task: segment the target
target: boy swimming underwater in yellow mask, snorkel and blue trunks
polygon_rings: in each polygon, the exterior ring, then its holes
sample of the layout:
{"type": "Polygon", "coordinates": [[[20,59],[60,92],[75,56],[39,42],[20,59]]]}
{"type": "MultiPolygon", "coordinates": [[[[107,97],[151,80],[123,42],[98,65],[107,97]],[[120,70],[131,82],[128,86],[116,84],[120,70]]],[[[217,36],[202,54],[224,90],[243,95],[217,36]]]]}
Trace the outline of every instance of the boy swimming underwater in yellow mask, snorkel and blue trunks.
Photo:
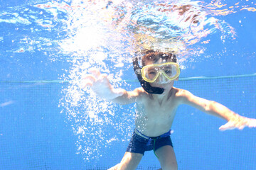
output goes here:
{"type": "Polygon", "coordinates": [[[178,80],[180,69],[174,54],[153,50],[145,53],[142,57],[142,68],[139,67],[138,59],[133,59],[134,71],[142,88],[134,91],[114,89],[107,75],[101,74],[97,69],[91,70],[92,74],[85,77],[88,80],[85,86],[90,86],[98,96],[119,104],[137,103],[136,128],[132,139],[122,161],[112,169],[136,169],[147,150],[154,150],[161,169],[178,169],[170,129],[176,109],[181,104],[228,120],[220,130],[256,127],[255,119],[242,117],[220,103],[175,88],[174,81],[178,80]]]}

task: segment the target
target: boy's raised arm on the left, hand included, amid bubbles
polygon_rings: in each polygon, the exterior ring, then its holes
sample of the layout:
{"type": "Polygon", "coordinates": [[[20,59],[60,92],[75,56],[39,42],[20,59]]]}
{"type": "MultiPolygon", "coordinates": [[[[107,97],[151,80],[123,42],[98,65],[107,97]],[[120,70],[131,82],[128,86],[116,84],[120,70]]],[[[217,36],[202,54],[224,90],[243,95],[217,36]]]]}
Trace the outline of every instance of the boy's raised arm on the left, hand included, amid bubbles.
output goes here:
{"type": "Polygon", "coordinates": [[[98,69],[90,69],[92,74],[88,74],[84,79],[87,80],[86,86],[90,86],[93,91],[100,96],[114,103],[129,104],[136,101],[139,96],[139,90],[126,91],[124,89],[114,89],[107,79],[106,74],[101,74],[98,69]]]}

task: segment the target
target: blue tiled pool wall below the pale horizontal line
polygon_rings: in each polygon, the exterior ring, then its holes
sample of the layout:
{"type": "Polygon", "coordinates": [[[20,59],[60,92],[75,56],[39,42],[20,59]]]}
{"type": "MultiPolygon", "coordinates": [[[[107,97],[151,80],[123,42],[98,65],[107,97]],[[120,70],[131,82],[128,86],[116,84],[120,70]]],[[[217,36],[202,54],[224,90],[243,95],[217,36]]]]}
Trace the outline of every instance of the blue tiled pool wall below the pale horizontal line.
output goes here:
{"type": "MultiPolygon", "coordinates": [[[[139,86],[137,82],[131,84],[139,86]]],[[[175,86],[255,118],[255,84],[256,77],[252,76],[181,80],[175,86]]],[[[102,148],[97,159],[87,161],[84,154],[77,154],[74,123],[59,107],[67,86],[1,82],[0,169],[107,169],[122,159],[129,142],[122,139],[97,146],[102,148]]],[[[120,107],[119,111],[124,113],[130,107],[120,107]]],[[[256,130],[220,132],[218,128],[224,123],[190,106],[179,106],[171,135],[179,169],[255,169],[256,130]]],[[[146,152],[138,169],[159,167],[153,152],[146,152]]]]}

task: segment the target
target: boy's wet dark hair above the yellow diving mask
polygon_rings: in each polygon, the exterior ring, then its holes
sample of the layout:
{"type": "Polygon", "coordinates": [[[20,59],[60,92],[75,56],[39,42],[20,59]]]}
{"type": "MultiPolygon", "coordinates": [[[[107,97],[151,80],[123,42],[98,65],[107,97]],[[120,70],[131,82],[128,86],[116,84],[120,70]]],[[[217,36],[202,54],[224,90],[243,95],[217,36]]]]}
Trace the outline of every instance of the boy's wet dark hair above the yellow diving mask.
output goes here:
{"type": "Polygon", "coordinates": [[[177,62],[176,55],[173,52],[160,52],[154,50],[146,50],[142,57],[142,67],[146,65],[146,61],[157,62],[159,59],[171,60],[171,62],[177,62]]]}

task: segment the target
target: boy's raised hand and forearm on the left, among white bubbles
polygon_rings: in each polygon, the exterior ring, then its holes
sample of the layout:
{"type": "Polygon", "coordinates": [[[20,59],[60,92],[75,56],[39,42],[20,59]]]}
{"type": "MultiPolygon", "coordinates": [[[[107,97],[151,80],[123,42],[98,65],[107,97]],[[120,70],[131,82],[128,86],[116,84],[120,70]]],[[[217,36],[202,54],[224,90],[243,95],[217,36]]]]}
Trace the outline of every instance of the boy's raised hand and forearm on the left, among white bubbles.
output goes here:
{"type": "Polygon", "coordinates": [[[123,89],[114,89],[107,79],[107,74],[101,74],[99,69],[90,69],[92,74],[88,74],[83,79],[86,79],[86,86],[90,86],[93,91],[101,98],[114,99],[124,94],[123,89]]]}

